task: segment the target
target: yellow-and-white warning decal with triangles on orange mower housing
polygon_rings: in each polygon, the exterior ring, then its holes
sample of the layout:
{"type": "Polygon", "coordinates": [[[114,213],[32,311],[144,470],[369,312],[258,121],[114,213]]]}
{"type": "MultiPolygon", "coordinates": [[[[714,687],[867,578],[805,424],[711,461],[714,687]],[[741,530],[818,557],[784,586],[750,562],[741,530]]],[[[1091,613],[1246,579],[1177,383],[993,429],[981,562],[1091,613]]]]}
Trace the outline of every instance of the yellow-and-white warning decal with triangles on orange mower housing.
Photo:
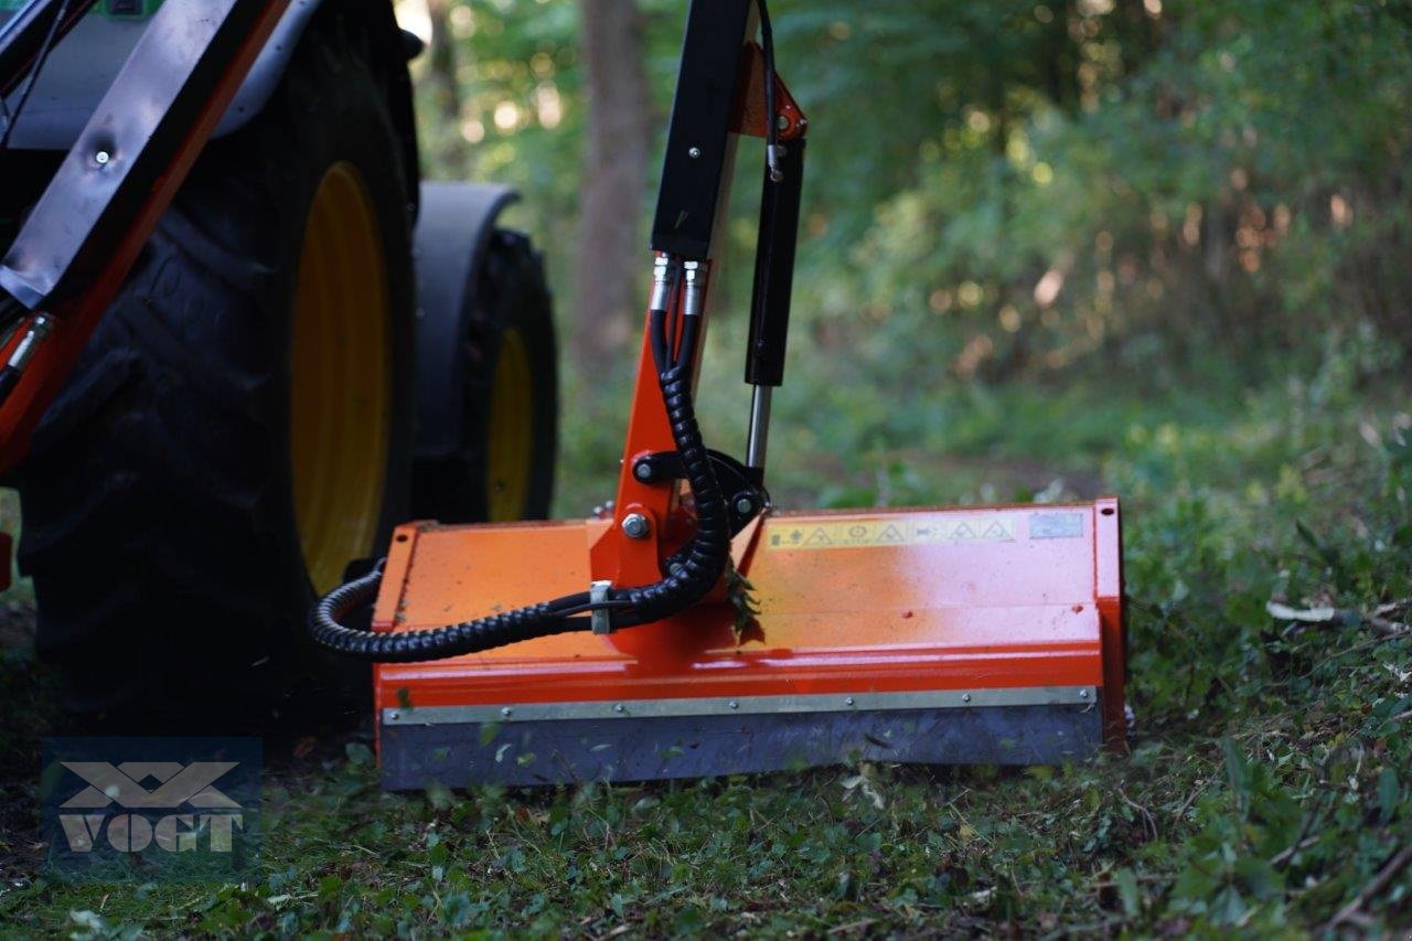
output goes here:
{"type": "Polygon", "coordinates": [[[825,550],[864,548],[871,545],[929,545],[933,543],[1008,543],[1015,538],[1011,514],[987,516],[908,516],[864,520],[774,520],[770,548],[825,550]]]}

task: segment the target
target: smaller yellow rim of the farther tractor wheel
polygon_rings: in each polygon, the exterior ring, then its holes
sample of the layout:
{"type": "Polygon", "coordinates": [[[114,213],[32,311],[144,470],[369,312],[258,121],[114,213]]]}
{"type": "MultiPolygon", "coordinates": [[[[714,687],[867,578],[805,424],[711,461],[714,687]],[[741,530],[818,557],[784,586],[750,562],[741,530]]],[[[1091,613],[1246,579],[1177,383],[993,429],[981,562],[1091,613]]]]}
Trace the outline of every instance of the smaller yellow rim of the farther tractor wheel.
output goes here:
{"type": "Polygon", "coordinates": [[[490,386],[490,441],[486,454],[486,506],[491,521],[524,519],[534,463],[534,380],[524,335],[500,335],[490,386]]]}

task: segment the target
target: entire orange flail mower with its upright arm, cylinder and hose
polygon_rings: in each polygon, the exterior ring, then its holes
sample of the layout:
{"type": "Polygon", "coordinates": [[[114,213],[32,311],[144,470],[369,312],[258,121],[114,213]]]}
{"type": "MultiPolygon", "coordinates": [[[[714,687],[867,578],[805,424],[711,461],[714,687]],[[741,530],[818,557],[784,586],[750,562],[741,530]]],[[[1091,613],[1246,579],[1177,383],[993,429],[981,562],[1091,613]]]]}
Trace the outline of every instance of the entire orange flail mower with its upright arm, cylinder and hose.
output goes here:
{"type": "Polygon", "coordinates": [[[772,59],[764,3],[693,0],[611,516],[409,523],[312,613],[316,640],[377,661],[384,786],[1052,763],[1123,742],[1117,500],[771,511],[806,129],[772,59]],[[767,140],[744,461],[705,448],[692,404],[740,134],[767,140]],[[370,632],[342,625],[374,598],[370,632]]]}

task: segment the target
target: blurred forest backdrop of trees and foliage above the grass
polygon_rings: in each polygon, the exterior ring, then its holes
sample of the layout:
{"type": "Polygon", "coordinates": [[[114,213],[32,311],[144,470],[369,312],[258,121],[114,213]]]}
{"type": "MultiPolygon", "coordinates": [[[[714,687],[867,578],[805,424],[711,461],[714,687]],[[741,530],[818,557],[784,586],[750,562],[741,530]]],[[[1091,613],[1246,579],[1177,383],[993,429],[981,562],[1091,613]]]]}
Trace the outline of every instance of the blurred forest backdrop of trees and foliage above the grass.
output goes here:
{"type": "MultiPolygon", "coordinates": [[[[456,172],[474,161],[521,188],[565,332],[596,366],[645,287],[686,0],[449,7],[460,120],[424,99],[428,160],[452,162],[435,147],[449,131],[469,151],[456,172]]],[[[771,7],[812,138],[791,345],[812,366],[792,374],[822,394],[882,403],[1099,362],[1152,381],[1217,357],[1288,369],[1365,324],[1412,349],[1406,0],[771,7]]],[[[733,300],[758,151],[741,164],[733,300]]]]}

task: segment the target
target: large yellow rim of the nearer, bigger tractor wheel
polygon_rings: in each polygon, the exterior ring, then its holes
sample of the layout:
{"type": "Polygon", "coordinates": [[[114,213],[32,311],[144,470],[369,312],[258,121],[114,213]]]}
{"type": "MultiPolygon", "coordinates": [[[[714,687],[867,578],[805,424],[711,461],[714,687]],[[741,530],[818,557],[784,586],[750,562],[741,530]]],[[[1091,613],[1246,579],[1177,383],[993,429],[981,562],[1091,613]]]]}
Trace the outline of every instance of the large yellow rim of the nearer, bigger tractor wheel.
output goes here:
{"type": "Polygon", "coordinates": [[[319,184],[294,300],[294,516],[319,592],[377,538],[391,425],[387,263],[367,184],[349,162],[319,184]]]}

